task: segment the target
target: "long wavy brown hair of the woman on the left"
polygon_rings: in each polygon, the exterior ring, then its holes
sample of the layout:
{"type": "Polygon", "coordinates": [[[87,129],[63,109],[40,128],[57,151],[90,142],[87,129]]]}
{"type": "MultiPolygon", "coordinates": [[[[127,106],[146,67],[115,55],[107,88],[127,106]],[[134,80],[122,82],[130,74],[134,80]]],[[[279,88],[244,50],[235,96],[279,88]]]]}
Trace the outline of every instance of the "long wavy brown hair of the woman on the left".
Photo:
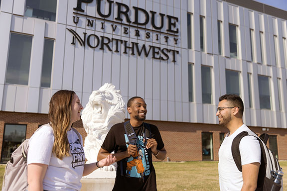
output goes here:
{"type": "Polygon", "coordinates": [[[71,123],[72,100],[75,92],[60,90],[56,92],[49,103],[49,120],[54,131],[53,153],[58,159],[69,156],[69,142],[67,132],[71,123]]]}

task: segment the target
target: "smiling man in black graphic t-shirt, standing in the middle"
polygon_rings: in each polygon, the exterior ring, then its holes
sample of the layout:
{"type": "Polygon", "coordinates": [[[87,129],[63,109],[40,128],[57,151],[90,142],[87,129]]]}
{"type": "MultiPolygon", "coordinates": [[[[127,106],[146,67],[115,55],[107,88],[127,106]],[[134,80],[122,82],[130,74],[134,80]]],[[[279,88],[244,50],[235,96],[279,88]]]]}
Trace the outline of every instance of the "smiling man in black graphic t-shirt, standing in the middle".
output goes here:
{"type": "Polygon", "coordinates": [[[107,157],[113,151],[117,158],[117,176],[113,191],[156,191],[155,170],[152,165],[152,153],[156,159],[164,160],[166,150],[160,133],[155,125],[143,123],[146,115],[146,103],[142,97],[132,97],[127,104],[131,115],[130,124],[138,139],[136,145],[129,144],[124,123],[114,125],[102,145],[98,160],[107,157]],[[148,128],[149,135],[145,135],[148,128]],[[145,141],[147,141],[146,144],[145,141]]]}

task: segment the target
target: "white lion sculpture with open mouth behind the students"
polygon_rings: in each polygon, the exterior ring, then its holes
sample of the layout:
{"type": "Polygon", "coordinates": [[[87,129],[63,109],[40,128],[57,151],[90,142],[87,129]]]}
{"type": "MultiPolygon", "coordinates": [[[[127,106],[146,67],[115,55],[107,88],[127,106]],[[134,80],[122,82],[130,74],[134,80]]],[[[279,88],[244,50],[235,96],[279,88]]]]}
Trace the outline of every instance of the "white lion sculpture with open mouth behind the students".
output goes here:
{"type": "MultiPolygon", "coordinates": [[[[114,124],[125,120],[125,102],[120,90],[113,84],[104,84],[93,91],[82,111],[82,120],[87,132],[84,151],[88,163],[96,162],[99,150],[114,124]]],[[[116,171],[116,163],[101,170],[116,171]]]]}

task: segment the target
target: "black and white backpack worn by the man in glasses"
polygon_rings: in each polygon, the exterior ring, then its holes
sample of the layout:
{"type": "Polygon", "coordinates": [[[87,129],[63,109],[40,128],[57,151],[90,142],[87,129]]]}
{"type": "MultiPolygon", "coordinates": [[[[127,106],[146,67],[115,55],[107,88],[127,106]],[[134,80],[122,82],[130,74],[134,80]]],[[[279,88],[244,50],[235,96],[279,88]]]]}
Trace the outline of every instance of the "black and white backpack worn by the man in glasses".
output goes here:
{"type": "Polygon", "coordinates": [[[276,188],[274,191],[283,191],[283,181],[281,185],[278,185],[272,181],[273,171],[280,170],[278,159],[272,153],[272,151],[266,146],[269,135],[264,133],[258,137],[252,131],[243,131],[239,133],[233,140],[231,151],[234,162],[240,172],[242,172],[241,156],[239,151],[239,143],[245,136],[254,136],[257,138],[261,148],[261,165],[259,168],[257,189],[256,191],[271,191],[271,188],[276,188]]]}

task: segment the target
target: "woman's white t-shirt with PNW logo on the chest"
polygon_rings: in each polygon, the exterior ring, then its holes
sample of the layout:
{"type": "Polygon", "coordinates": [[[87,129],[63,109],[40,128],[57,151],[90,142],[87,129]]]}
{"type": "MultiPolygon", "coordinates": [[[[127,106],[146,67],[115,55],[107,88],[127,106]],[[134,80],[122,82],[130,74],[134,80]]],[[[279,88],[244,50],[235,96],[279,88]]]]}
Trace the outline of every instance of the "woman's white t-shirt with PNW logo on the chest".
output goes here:
{"type": "Polygon", "coordinates": [[[80,180],[83,175],[85,154],[82,137],[79,140],[76,132],[67,133],[70,156],[58,159],[52,153],[54,144],[53,129],[45,124],[35,132],[29,141],[27,164],[40,163],[48,165],[43,189],[47,191],[80,191],[80,180]]]}

